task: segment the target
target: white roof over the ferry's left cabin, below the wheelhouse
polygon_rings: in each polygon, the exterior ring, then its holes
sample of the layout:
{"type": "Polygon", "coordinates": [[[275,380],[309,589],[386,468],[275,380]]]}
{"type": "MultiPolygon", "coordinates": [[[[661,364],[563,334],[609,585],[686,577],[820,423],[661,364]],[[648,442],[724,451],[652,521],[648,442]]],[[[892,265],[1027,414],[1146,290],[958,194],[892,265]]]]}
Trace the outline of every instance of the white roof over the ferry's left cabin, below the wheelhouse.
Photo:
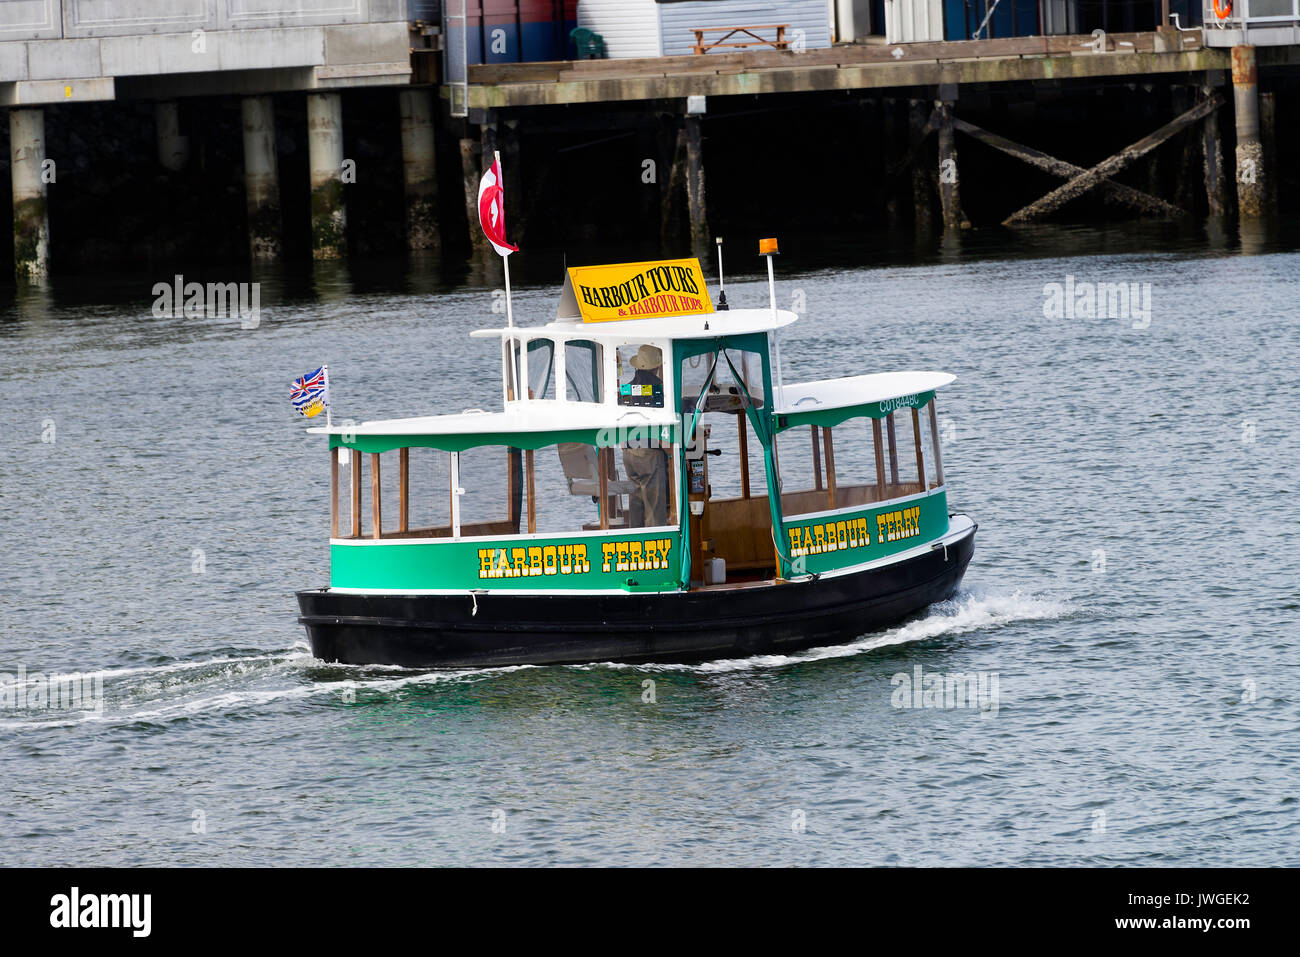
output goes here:
{"type": "Polygon", "coordinates": [[[454,415],[382,419],[360,425],[316,426],[317,436],[474,436],[495,432],[560,432],[567,429],[636,428],[673,425],[671,408],[610,406],[595,402],[529,399],[514,402],[504,412],[469,410],[454,415]]]}

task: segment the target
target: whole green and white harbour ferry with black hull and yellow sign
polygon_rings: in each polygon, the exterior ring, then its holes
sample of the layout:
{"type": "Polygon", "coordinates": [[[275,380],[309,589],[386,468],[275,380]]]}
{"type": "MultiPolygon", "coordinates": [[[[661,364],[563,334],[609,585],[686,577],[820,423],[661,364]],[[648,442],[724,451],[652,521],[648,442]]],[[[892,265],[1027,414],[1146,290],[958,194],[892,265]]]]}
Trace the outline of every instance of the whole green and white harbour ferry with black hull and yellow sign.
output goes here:
{"type": "Polygon", "coordinates": [[[694,259],[571,268],[555,321],[472,334],[500,350],[502,411],[311,429],[332,503],[330,584],[298,593],[312,653],[698,662],[952,596],[976,529],[944,485],[954,377],[784,384],[775,285],[768,308],[723,303],[694,259]]]}

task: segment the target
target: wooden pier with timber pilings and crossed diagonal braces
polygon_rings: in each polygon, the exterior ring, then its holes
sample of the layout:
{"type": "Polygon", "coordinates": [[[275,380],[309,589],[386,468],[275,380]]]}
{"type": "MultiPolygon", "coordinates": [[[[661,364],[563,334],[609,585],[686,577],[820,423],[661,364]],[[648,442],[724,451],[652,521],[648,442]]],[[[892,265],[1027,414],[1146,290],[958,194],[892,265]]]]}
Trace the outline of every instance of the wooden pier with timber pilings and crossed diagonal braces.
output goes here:
{"type": "MultiPolygon", "coordinates": [[[[1210,216],[1222,216],[1232,208],[1238,208],[1242,216],[1260,216],[1265,205],[1261,199],[1265,195],[1261,186],[1265,157],[1258,143],[1261,135],[1271,139],[1271,130],[1264,134],[1256,130],[1245,152],[1238,150],[1236,192],[1240,202],[1234,204],[1222,169],[1218,111],[1230,99],[1226,87],[1231,77],[1235,114],[1240,117],[1244,112],[1253,116],[1258,112],[1249,108],[1254,101],[1256,61],[1266,70],[1294,66],[1300,64],[1300,48],[1261,47],[1256,52],[1251,47],[1248,66],[1238,64],[1234,69],[1242,49],[1247,48],[1228,51],[1206,47],[1199,29],[942,43],[858,43],[809,51],[751,48],[654,59],[476,65],[469,66],[467,82],[459,88],[443,87],[443,96],[455,95],[467,104],[468,127],[464,135],[471,139],[463,140],[462,148],[469,152],[477,148],[472,142],[473,126],[495,129],[504,117],[524,125],[545,126],[551,122],[547,117],[555,116],[547,109],[588,105],[595,111],[608,109],[610,126],[618,129],[616,117],[625,118],[629,111],[675,113],[679,148],[670,153],[670,192],[680,182],[690,189],[680,198],[666,199],[662,230],[670,234],[667,220],[675,215],[684,216],[689,225],[681,231],[689,234],[693,251],[699,255],[706,250],[710,235],[701,116],[685,105],[693,100],[698,104],[698,98],[861,92],[890,98],[890,103],[906,100],[910,111],[906,139],[898,146],[885,142],[883,148],[894,153],[888,168],[890,179],[906,169],[911,170],[915,221],[923,229],[930,229],[932,221],[941,221],[944,229],[970,226],[961,205],[956,134],[974,138],[1065,181],[1037,200],[1008,209],[1004,217],[1006,225],[1043,218],[1088,191],[1097,191],[1108,203],[1127,207],[1138,216],[1186,216],[1188,209],[1179,204],[1178,196],[1154,195],[1150,189],[1136,189],[1113,177],[1196,124],[1201,125],[1197,148],[1205,190],[1204,205],[1197,205],[1208,209],[1210,216]],[[1252,86],[1244,87],[1247,77],[1252,86]],[[1069,91],[1102,82],[1127,82],[1147,90],[1153,83],[1176,87],[1182,92],[1171,96],[1170,103],[1182,105],[1167,117],[1153,117],[1156,122],[1152,126],[1156,129],[1149,135],[1117,148],[1100,163],[1084,164],[1013,142],[962,116],[962,91],[1032,103],[1035,94],[1044,87],[1069,91]],[[1247,105],[1243,107],[1243,103],[1247,105]],[[937,134],[937,146],[930,143],[932,133],[937,134]],[[682,150],[682,142],[689,148],[682,150]],[[901,159],[898,153],[902,153],[901,159]],[[684,168],[680,168],[682,164],[684,168]],[[1249,168],[1243,172],[1242,164],[1249,164],[1249,168]]],[[[1139,109],[1143,108],[1145,104],[1139,109]]],[[[1096,124],[1097,117],[1086,122],[1096,124]]],[[[467,172],[469,169],[467,165],[467,172]]],[[[1187,190],[1182,183],[1176,192],[1186,202],[1187,190]]]]}

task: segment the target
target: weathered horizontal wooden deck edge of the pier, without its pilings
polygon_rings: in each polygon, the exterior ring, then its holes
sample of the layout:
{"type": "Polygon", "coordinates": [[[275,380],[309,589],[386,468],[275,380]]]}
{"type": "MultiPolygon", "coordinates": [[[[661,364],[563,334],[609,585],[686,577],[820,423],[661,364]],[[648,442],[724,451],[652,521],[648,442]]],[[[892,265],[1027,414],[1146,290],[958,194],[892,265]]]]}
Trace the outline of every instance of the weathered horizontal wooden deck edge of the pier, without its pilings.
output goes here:
{"type": "Polygon", "coordinates": [[[469,105],[534,107],[1230,69],[1227,51],[1202,47],[1200,31],[1176,39],[1182,48],[1165,53],[1156,52],[1153,33],[1140,33],[1108,34],[1105,51],[1095,49],[1092,36],[1076,35],[488,64],[469,68],[469,105]]]}

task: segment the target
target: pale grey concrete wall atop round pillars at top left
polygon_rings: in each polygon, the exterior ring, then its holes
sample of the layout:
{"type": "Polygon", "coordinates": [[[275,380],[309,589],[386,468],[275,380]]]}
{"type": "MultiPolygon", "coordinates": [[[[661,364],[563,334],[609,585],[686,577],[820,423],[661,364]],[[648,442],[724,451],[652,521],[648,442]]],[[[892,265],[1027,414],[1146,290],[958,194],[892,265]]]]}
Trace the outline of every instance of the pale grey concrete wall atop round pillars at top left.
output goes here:
{"type": "Polygon", "coordinates": [[[0,0],[0,105],[113,99],[120,78],[168,95],[161,78],[177,74],[170,95],[407,82],[406,13],[406,0],[0,0]]]}

